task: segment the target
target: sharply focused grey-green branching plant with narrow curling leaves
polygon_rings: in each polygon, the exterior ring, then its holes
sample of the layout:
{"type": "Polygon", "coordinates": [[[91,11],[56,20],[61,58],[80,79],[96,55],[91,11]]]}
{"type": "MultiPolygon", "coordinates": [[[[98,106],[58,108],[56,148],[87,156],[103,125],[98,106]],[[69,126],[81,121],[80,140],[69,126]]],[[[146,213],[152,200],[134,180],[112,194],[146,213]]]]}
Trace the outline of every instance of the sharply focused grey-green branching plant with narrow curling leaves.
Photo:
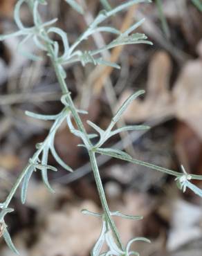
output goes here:
{"type": "MultiPolygon", "coordinates": [[[[68,4],[71,5],[72,8],[80,12],[81,14],[84,13],[82,6],[80,6],[77,1],[75,0],[66,0],[68,4]]],[[[110,50],[116,46],[125,45],[125,44],[152,44],[151,42],[147,41],[147,37],[140,33],[134,33],[134,30],[143,23],[143,20],[138,21],[137,23],[133,24],[130,28],[125,30],[124,32],[120,32],[117,28],[113,28],[110,26],[102,26],[102,22],[113,15],[116,15],[118,12],[127,10],[130,6],[134,5],[135,3],[149,3],[149,0],[131,0],[131,1],[123,1],[119,6],[115,8],[111,7],[109,1],[100,1],[104,6],[105,10],[98,13],[98,16],[95,17],[92,24],[89,28],[86,28],[84,33],[77,38],[77,40],[73,44],[69,44],[68,42],[68,35],[61,30],[53,26],[57,19],[52,19],[50,21],[43,22],[42,18],[40,17],[39,8],[41,5],[48,4],[48,1],[44,0],[19,0],[15,6],[14,18],[15,23],[19,30],[14,33],[10,33],[8,35],[1,35],[0,40],[6,39],[8,37],[17,37],[21,36],[22,40],[19,43],[19,51],[21,51],[28,59],[37,61],[39,60],[39,56],[34,55],[33,53],[25,53],[23,51],[23,45],[29,39],[33,39],[35,45],[40,51],[43,51],[53,64],[53,68],[55,74],[57,76],[57,80],[59,82],[59,86],[62,91],[61,102],[64,105],[64,108],[60,113],[57,115],[43,115],[39,113],[31,113],[26,111],[26,115],[30,116],[30,118],[37,118],[42,120],[49,120],[53,121],[53,125],[48,132],[45,140],[42,143],[37,143],[36,145],[36,152],[28,161],[28,164],[21,172],[19,177],[17,178],[16,183],[14,184],[12,190],[8,194],[6,201],[0,203],[0,223],[3,226],[3,238],[5,239],[6,243],[13,250],[17,253],[17,249],[12,244],[12,240],[10,239],[10,235],[4,221],[4,217],[6,214],[9,214],[13,211],[13,209],[9,208],[10,201],[12,200],[13,196],[17,191],[17,188],[21,186],[21,201],[25,203],[26,201],[26,193],[28,190],[28,183],[33,175],[33,172],[41,172],[42,180],[44,184],[50,190],[50,192],[54,192],[53,188],[51,188],[50,183],[48,181],[48,172],[50,170],[57,171],[57,169],[51,165],[48,165],[48,155],[49,153],[53,155],[55,160],[59,165],[64,167],[69,172],[73,172],[71,167],[69,167],[64,161],[58,156],[57,151],[54,146],[55,134],[58,131],[59,127],[62,125],[62,122],[66,122],[68,125],[68,129],[71,131],[72,134],[75,136],[80,137],[82,140],[82,147],[86,147],[89,152],[89,159],[91,161],[91,167],[93,170],[93,174],[95,177],[95,183],[98,188],[98,193],[100,196],[100,201],[102,203],[102,213],[96,212],[89,212],[88,210],[82,210],[84,214],[90,214],[93,217],[98,217],[102,220],[102,231],[100,233],[100,237],[95,242],[95,246],[91,252],[93,256],[109,256],[109,255],[139,255],[136,251],[131,251],[130,247],[131,244],[136,241],[143,241],[143,242],[150,242],[148,239],[144,237],[136,237],[131,239],[127,245],[125,246],[122,244],[122,240],[120,239],[120,234],[116,228],[116,225],[113,221],[113,217],[122,217],[125,219],[131,220],[140,220],[142,217],[139,216],[129,216],[127,214],[122,214],[119,211],[110,212],[107,200],[104,194],[104,189],[102,187],[102,181],[100,179],[100,172],[98,169],[97,163],[97,154],[104,154],[107,156],[111,156],[112,158],[122,159],[124,161],[128,161],[130,163],[135,163],[136,165],[143,165],[148,167],[150,170],[156,170],[159,172],[163,172],[165,174],[170,174],[176,177],[176,183],[180,189],[185,192],[186,188],[190,188],[194,193],[202,196],[202,191],[199,188],[196,188],[190,181],[192,179],[202,179],[202,176],[197,176],[194,174],[186,174],[185,171],[181,174],[179,172],[175,172],[173,170],[167,170],[166,168],[156,166],[150,163],[145,163],[143,161],[139,161],[137,159],[132,158],[126,152],[120,151],[118,149],[111,149],[104,147],[104,143],[109,140],[112,136],[119,134],[122,131],[132,131],[132,130],[139,130],[139,129],[149,129],[147,126],[143,125],[129,125],[122,128],[114,129],[116,123],[122,117],[122,113],[127,109],[129,104],[136,99],[138,96],[143,95],[144,91],[140,90],[131,95],[118,109],[115,116],[111,119],[109,126],[107,129],[103,130],[98,125],[95,125],[90,120],[87,123],[95,130],[95,134],[87,134],[86,129],[82,123],[80,118],[81,114],[85,114],[86,111],[76,109],[75,104],[71,98],[71,93],[68,91],[68,86],[66,85],[66,71],[64,69],[65,64],[71,64],[73,62],[81,62],[82,65],[86,65],[88,63],[91,64],[104,64],[107,66],[113,66],[115,68],[120,68],[118,64],[111,63],[109,60],[102,60],[100,53],[102,51],[110,50]],[[27,28],[24,26],[23,22],[20,18],[20,10],[23,3],[27,3],[28,7],[30,8],[33,14],[33,21],[34,26],[31,28],[27,28]],[[80,44],[88,39],[91,35],[97,32],[104,32],[104,33],[111,33],[111,35],[116,36],[112,42],[110,42],[107,46],[98,49],[92,49],[91,51],[82,51],[80,50],[80,44]],[[58,42],[54,41],[52,37],[53,34],[59,35],[61,37],[61,41],[63,44],[64,52],[60,54],[60,48],[58,42]],[[72,120],[75,122],[75,126],[73,125],[72,120]],[[91,138],[98,136],[98,143],[93,144],[91,138]],[[108,250],[102,253],[102,246],[106,244],[108,250]]],[[[68,145],[67,145],[68,147],[68,145]]]]}

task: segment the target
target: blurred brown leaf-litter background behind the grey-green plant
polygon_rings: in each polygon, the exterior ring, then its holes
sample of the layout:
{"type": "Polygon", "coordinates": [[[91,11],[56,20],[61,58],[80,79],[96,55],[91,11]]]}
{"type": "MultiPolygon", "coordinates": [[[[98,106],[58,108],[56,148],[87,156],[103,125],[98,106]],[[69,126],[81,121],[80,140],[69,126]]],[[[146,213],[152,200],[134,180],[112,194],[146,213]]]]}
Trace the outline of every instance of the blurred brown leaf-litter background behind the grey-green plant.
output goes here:
{"type": "MultiPolygon", "coordinates": [[[[17,30],[12,19],[15,2],[0,1],[1,34],[17,30]]],[[[57,26],[68,33],[71,43],[102,9],[98,0],[81,2],[86,5],[85,17],[62,0],[48,0],[48,7],[42,8],[44,20],[59,18],[57,26]]],[[[113,0],[111,5],[121,2],[113,0]]],[[[109,146],[178,172],[183,164],[188,173],[202,175],[202,10],[193,2],[163,1],[169,30],[162,27],[155,2],[138,4],[112,17],[109,24],[120,30],[146,17],[138,31],[154,46],[138,44],[105,52],[121,70],[91,64],[66,66],[66,82],[77,107],[89,111],[84,123],[89,119],[103,129],[132,92],[145,89],[145,96],[130,105],[122,123],[144,123],[151,129],[116,136],[109,146]]],[[[24,24],[32,26],[26,7],[21,17],[24,24]]],[[[106,33],[97,34],[82,47],[93,49],[111,39],[106,33]]],[[[24,111],[54,114],[62,109],[48,57],[41,62],[26,60],[17,52],[17,44],[19,38],[0,43],[1,201],[35,152],[35,144],[44,140],[50,129],[51,122],[28,118],[24,111]]],[[[24,47],[36,52],[33,42],[24,47]]],[[[87,125],[86,129],[91,131],[87,125]]],[[[56,193],[46,190],[38,172],[30,181],[26,205],[21,204],[19,194],[12,201],[15,213],[7,222],[22,256],[86,256],[100,234],[99,219],[80,212],[83,208],[100,212],[101,208],[88,155],[78,143],[62,125],[55,147],[75,172],[68,174],[50,156],[49,163],[58,168],[56,173],[49,172],[56,193]]],[[[145,167],[103,156],[98,163],[111,210],[144,216],[142,221],[116,220],[125,243],[131,237],[145,236],[152,244],[134,247],[141,256],[201,256],[202,201],[198,196],[188,190],[182,194],[172,177],[145,167]]],[[[195,184],[202,186],[200,181],[195,184]]],[[[13,255],[3,241],[0,255],[13,255]]]]}

